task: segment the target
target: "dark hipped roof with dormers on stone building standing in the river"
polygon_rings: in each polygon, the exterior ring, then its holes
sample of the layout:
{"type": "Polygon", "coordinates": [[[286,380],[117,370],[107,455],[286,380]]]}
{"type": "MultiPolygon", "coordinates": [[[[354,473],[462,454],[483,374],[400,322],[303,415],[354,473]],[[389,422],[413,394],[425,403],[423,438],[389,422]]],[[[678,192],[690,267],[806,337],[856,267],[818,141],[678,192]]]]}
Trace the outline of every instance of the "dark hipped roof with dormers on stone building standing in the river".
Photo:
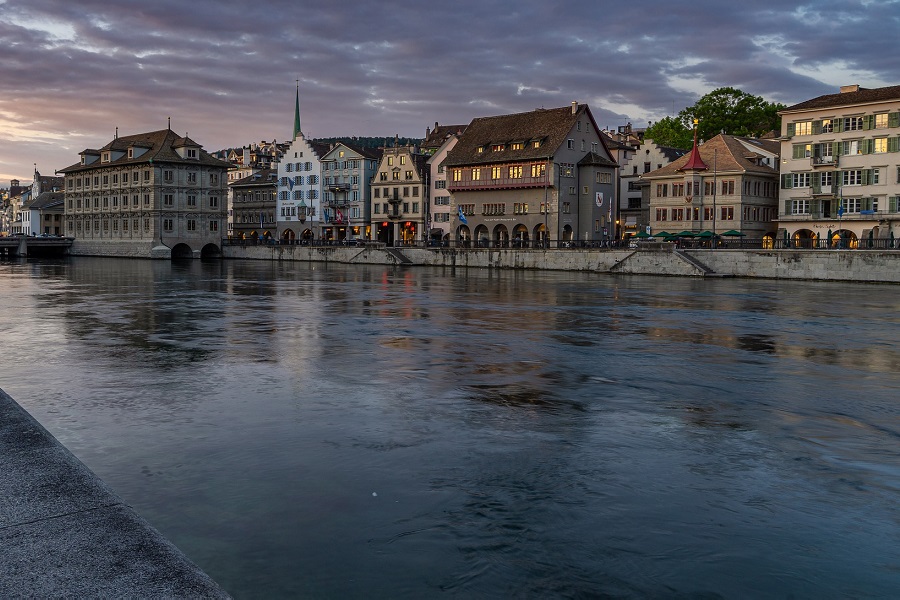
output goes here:
{"type": "Polygon", "coordinates": [[[231,165],[225,161],[221,161],[217,158],[213,158],[208,152],[200,148],[200,145],[196,142],[192,141],[190,138],[181,137],[176,134],[171,129],[161,129],[159,131],[151,131],[148,133],[139,133],[137,135],[126,135],[122,137],[118,137],[106,144],[98,150],[85,150],[85,152],[91,152],[93,154],[101,154],[106,150],[118,150],[123,152],[124,154],[116,160],[110,161],[108,163],[97,163],[93,162],[89,165],[82,165],[81,163],[74,164],[70,167],[66,167],[65,169],[60,169],[60,173],[72,173],[76,171],[83,171],[86,169],[95,169],[100,166],[116,166],[116,165],[139,165],[153,162],[166,162],[166,163],[184,163],[184,164],[200,164],[211,167],[222,167],[227,169],[231,165]],[[196,146],[199,148],[199,159],[185,159],[181,158],[177,152],[175,152],[175,148],[180,148],[182,146],[196,146]],[[128,148],[129,147],[139,147],[139,148],[147,148],[147,151],[138,156],[137,158],[128,158],[128,148]]]}

